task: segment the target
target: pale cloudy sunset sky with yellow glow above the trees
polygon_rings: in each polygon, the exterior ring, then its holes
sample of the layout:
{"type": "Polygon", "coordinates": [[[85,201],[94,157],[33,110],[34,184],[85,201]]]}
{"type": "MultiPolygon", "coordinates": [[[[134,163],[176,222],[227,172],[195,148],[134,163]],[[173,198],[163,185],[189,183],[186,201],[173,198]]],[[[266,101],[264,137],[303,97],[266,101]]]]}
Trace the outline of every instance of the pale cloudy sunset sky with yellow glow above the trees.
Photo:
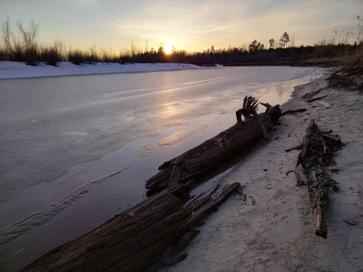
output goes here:
{"type": "MultiPolygon", "coordinates": [[[[296,45],[358,34],[363,0],[0,0],[0,20],[39,24],[39,41],[61,39],[82,50],[137,48],[204,51],[269,45],[284,32],[296,45]],[[335,34],[337,31],[337,34],[335,34]]],[[[352,39],[351,39],[352,41],[352,39]]]]}

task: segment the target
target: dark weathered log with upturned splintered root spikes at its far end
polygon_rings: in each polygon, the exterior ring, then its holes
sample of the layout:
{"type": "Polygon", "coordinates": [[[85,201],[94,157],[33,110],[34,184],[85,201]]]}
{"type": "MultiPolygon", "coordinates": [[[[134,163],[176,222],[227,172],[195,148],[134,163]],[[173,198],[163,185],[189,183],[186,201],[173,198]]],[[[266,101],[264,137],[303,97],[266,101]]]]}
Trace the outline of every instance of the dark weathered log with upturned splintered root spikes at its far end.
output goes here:
{"type": "MultiPolygon", "coordinates": [[[[247,98],[246,96],[244,107],[236,111],[237,123],[235,125],[199,146],[160,165],[160,172],[146,181],[147,196],[166,189],[170,182],[173,182],[172,184],[175,185],[175,178],[172,173],[179,169],[180,173],[179,171],[177,172],[178,183],[186,183],[189,180],[196,180],[204,176],[232,155],[248,147],[249,144],[264,135],[263,130],[268,131],[272,129],[273,122],[276,122],[281,115],[280,105],[272,107],[267,103],[260,103],[266,107],[266,111],[257,115],[257,104],[256,99],[247,98]],[[241,115],[244,116],[244,121],[242,121],[241,115]],[[258,118],[254,115],[257,115],[258,118]],[[178,166],[178,168],[175,166],[178,166]]],[[[265,133],[265,139],[268,137],[266,134],[267,132],[265,133]]]]}

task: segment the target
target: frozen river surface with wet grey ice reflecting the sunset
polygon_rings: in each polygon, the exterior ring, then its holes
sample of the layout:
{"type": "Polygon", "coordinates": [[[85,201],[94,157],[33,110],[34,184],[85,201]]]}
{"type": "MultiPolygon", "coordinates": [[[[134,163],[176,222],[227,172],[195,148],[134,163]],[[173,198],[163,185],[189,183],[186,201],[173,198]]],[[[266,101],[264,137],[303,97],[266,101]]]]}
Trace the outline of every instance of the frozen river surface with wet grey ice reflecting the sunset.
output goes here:
{"type": "Polygon", "coordinates": [[[159,165],[236,123],[244,96],[282,104],[310,71],[0,80],[0,271],[16,271],[142,201],[159,165]]]}

